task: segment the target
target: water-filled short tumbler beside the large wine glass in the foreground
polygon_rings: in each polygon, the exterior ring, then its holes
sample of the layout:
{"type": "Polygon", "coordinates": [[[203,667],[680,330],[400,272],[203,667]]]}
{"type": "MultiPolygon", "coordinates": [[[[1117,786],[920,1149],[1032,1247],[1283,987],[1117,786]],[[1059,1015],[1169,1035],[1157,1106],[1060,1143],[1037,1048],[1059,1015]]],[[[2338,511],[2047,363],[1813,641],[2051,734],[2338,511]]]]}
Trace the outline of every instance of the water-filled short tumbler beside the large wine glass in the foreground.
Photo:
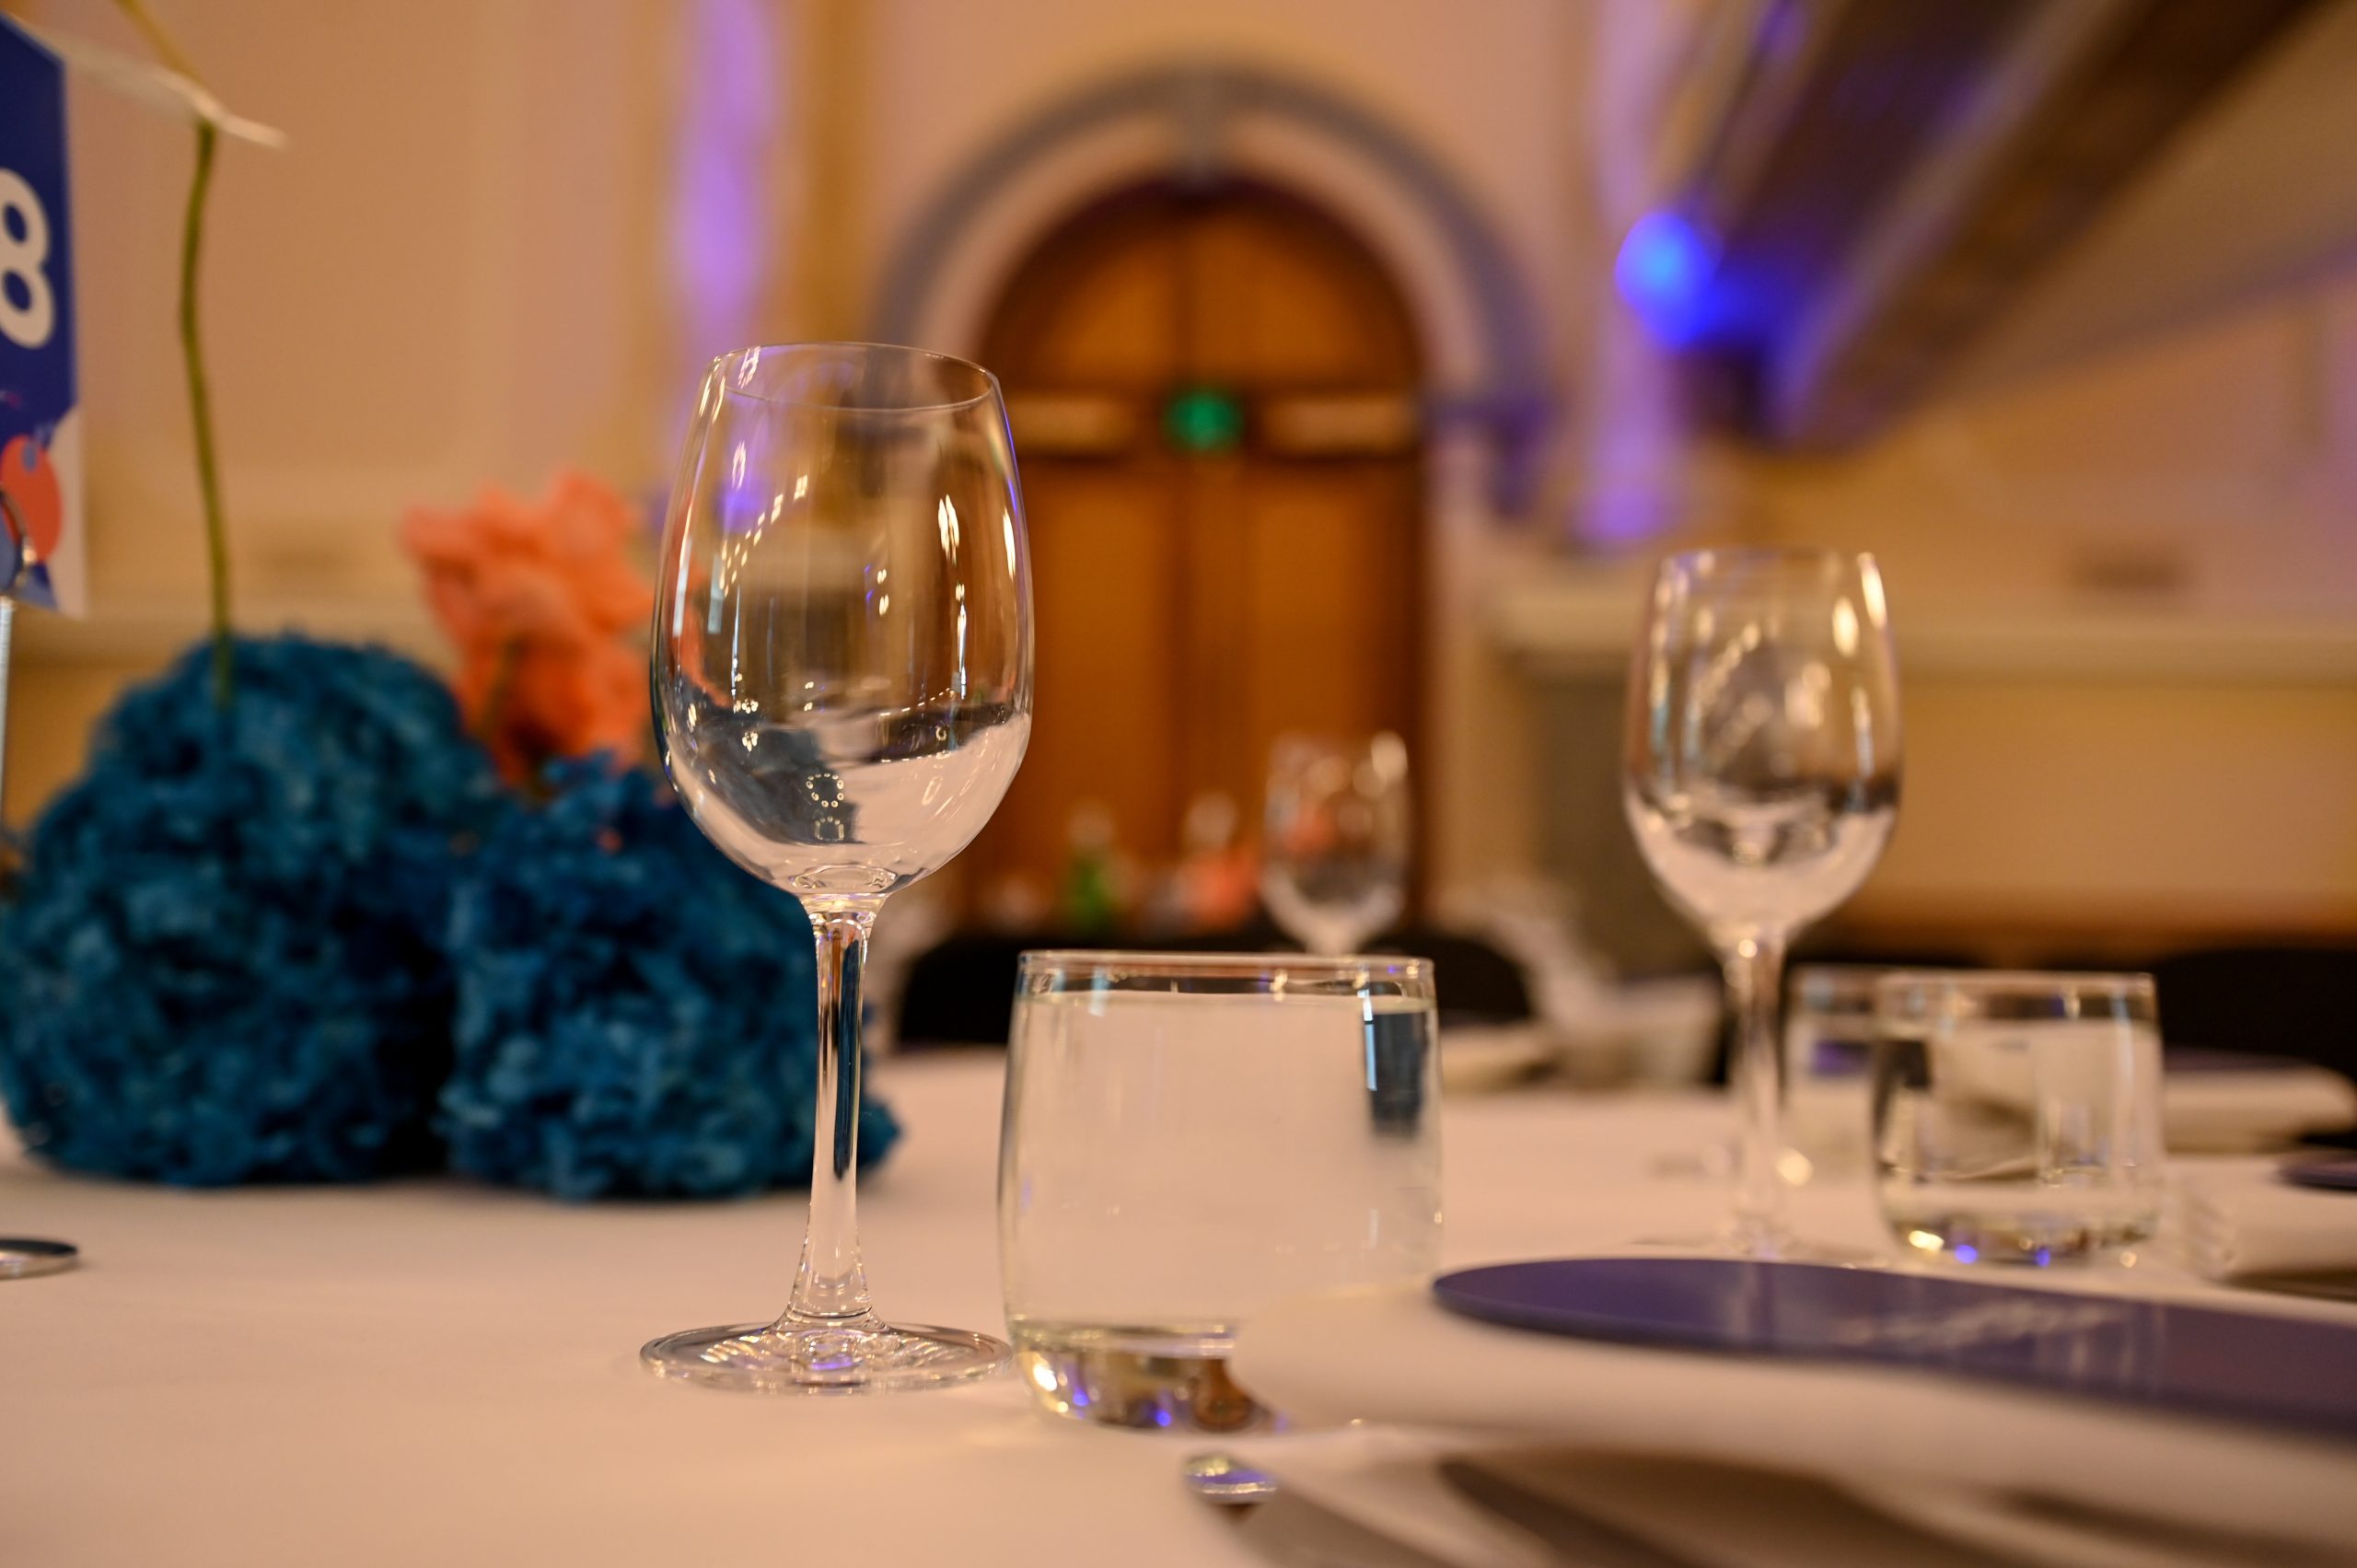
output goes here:
{"type": "Polygon", "coordinates": [[[1282,1297],[1440,1259],[1431,964],[1025,953],[999,1144],[1016,1365],[1061,1415],[1233,1431],[1282,1297]]]}

